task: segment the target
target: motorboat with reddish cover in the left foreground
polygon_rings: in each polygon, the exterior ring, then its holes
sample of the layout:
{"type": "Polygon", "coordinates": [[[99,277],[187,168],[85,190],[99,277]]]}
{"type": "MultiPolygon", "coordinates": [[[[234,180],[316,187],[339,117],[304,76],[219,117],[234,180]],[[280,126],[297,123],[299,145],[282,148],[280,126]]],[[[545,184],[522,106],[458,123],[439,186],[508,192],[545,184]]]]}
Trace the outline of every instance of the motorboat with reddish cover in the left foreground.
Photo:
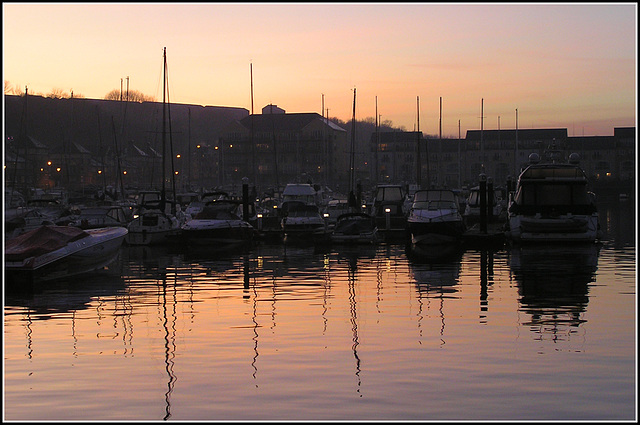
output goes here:
{"type": "Polygon", "coordinates": [[[6,241],[7,280],[51,281],[102,269],[118,257],[126,235],[124,227],[38,227],[6,241]]]}

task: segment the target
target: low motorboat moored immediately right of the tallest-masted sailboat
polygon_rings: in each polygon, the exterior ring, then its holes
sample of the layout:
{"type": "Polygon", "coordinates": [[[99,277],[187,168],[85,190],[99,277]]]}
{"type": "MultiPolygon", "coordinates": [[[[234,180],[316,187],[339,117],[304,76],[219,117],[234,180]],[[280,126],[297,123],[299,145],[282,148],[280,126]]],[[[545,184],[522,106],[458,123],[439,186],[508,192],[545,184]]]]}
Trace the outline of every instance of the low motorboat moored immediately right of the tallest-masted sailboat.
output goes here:
{"type": "Polygon", "coordinates": [[[242,208],[242,202],[236,200],[207,202],[202,211],[182,225],[180,240],[187,246],[211,248],[251,242],[256,230],[240,217],[242,208]]]}

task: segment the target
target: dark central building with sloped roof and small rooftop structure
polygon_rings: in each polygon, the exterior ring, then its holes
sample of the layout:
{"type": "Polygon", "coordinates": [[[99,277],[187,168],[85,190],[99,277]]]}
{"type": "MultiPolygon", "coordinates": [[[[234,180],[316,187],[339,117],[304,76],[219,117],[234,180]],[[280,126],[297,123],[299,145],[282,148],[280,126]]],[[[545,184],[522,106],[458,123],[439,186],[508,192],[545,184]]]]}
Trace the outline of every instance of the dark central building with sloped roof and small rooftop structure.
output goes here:
{"type": "Polygon", "coordinates": [[[219,185],[248,177],[263,190],[307,181],[337,188],[348,181],[346,134],[317,113],[288,114],[267,105],[262,114],[234,122],[219,139],[219,185]]]}

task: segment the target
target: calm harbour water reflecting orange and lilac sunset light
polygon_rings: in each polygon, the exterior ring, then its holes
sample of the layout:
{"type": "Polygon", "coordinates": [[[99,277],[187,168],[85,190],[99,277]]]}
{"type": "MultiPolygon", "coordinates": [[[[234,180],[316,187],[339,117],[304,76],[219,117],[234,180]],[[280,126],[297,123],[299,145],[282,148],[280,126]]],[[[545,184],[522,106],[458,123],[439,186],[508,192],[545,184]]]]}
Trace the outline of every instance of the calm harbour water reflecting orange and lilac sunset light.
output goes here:
{"type": "Polygon", "coordinates": [[[635,201],[597,246],[125,247],[5,296],[4,419],[635,420],[635,201]]]}

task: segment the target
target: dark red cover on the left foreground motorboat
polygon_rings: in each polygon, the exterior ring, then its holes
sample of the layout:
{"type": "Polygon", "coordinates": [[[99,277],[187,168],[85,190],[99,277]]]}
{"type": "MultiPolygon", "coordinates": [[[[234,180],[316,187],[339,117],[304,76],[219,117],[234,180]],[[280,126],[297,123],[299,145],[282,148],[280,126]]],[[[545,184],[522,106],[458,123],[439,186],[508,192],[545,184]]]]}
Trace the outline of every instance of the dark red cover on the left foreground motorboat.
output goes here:
{"type": "Polygon", "coordinates": [[[69,242],[89,236],[73,226],[41,226],[5,242],[6,261],[22,261],[29,257],[60,249],[69,242]]]}

